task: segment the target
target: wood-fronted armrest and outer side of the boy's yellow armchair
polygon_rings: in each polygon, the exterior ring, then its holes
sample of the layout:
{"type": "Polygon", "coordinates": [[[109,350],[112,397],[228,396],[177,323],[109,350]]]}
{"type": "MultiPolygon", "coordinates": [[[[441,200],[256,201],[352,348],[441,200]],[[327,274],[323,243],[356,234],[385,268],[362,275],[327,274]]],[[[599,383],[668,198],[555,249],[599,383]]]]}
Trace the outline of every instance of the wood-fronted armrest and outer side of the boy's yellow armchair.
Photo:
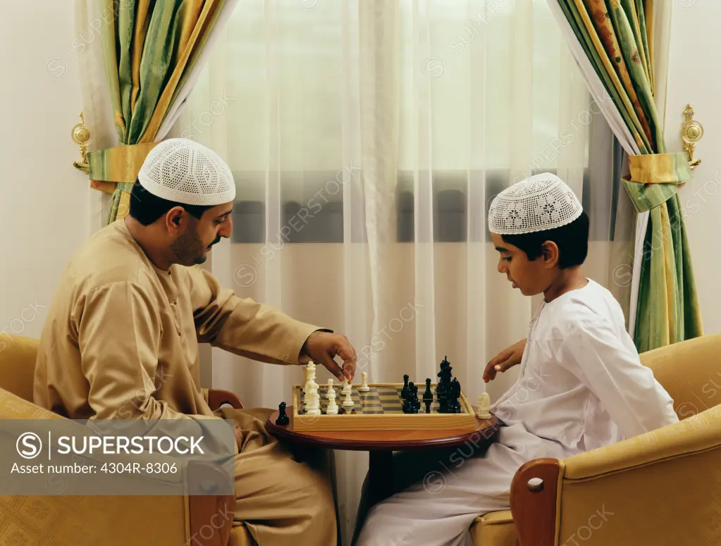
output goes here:
{"type": "Polygon", "coordinates": [[[513,478],[510,508],[520,546],[660,546],[717,540],[720,501],[716,406],[565,460],[530,461],[513,478]]]}

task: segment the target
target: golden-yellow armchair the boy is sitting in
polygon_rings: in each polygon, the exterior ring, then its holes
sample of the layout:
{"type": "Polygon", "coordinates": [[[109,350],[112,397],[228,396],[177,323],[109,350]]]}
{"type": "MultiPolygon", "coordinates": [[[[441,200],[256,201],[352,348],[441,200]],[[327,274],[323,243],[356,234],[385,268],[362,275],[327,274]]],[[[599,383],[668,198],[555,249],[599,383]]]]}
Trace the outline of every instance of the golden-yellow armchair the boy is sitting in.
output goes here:
{"type": "Polygon", "coordinates": [[[510,511],[474,522],[476,546],[721,544],[721,334],[641,355],[678,424],[513,479],[510,511]]]}

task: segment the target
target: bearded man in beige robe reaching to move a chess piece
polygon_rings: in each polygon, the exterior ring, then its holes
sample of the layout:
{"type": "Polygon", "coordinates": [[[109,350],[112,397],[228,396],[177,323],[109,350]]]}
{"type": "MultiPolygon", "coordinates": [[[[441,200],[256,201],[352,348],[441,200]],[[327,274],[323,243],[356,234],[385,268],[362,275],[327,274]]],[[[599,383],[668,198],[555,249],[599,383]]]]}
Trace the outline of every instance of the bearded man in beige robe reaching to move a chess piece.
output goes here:
{"type": "Polygon", "coordinates": [[[345,336],[224,290],[207,271],[231,236],[235,184],[213,151],[165,140],[143,163],[129,215],[76,252],[40,339],[35,403],[70,419],[234,419],[236,514],[260,546],[335,546],[329,485],[265,431],[272,410],[213,413],[198,343],[273,364],[320,362],[353,379],[345,336]],[[334,357],[343,359],[343,368],[334,357]]]}

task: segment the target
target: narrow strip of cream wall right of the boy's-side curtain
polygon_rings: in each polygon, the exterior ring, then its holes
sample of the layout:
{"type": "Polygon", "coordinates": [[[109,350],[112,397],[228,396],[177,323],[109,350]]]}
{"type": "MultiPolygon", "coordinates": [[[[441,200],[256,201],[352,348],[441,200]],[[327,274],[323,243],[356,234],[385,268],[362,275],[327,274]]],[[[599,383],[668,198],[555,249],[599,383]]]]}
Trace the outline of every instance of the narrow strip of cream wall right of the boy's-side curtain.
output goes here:
{"type": "Polygon", "coordinates": [[[665,134],[668,151],[681,151],[681,123],[691,104],[694,119],[704,125],[704,137],[694,157],[702,164],[681,189],[689,244],[701,299],[704,333],[721,331],[721,2],[677,0],[673,3],[671,53],[665,134]]]}

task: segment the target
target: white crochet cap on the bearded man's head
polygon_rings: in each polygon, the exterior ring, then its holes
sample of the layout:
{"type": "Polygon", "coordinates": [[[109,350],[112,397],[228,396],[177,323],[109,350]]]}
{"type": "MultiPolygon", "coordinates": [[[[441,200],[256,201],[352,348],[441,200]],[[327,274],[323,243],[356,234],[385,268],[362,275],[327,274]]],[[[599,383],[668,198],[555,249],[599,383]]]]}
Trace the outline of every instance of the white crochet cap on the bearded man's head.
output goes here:
{"type": "Polygon", "coordinates": [[[185,205],[214,207],[235,199],[235,182],[226,162],[187,138],[169,138],[153,148],[138,181],[151,194],[185,205]]]}

